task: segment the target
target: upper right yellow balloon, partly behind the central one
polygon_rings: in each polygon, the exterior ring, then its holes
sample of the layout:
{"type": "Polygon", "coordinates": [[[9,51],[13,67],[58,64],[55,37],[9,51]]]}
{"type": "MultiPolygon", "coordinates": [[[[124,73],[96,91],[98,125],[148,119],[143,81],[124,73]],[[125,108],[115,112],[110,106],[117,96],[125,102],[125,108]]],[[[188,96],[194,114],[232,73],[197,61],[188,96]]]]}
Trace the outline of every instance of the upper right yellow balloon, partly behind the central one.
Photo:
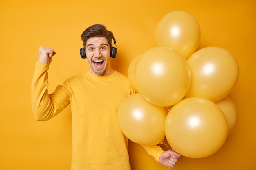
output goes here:
{"type": "Polygon", "coordinates": [[[192,54],[187,63],[191,84],[186,97],[202,97],[215,102],[227,96],[238,80],[238,63],[223,48],[202,48],[192,54]]]}

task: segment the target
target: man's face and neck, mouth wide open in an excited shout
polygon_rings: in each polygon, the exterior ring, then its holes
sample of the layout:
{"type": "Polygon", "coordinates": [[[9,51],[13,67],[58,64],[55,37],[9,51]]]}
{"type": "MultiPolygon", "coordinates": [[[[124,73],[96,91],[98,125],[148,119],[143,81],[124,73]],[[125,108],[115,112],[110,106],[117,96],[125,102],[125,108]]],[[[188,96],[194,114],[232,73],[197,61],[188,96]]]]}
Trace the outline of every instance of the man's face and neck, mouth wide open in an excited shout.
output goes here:
{"type": "Polygon", "coordinates": [[[99,76],[107,76],[113,73],[109,61],[110,50],[111,47],[105,37],[92,37],[86,41],[85,53],[91,66],[89,72],[99,76]]]}

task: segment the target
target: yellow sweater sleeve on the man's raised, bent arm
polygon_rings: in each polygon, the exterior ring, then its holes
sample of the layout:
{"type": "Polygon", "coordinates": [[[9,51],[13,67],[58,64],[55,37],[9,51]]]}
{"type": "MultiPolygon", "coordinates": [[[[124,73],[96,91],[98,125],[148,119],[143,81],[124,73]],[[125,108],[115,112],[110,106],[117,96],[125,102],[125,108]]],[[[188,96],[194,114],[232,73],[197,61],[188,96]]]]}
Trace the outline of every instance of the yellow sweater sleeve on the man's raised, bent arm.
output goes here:
{"type": "Polygon", "coordinates": [[[48,69],[48,64],[36,62],[31,84],[31,102],[34,117],[38,121],[53,118],[70,103],[69,92],[61,86],[52,94],[48,94],[48,69]]]}

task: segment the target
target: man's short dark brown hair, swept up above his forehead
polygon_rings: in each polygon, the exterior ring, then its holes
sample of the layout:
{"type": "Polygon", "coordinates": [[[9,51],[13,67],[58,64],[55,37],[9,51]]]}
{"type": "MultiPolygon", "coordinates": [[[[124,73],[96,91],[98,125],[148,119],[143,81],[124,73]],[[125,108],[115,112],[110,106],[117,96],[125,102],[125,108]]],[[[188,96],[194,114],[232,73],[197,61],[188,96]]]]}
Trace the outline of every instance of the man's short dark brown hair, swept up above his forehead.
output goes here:
{"type": "Polygon", "coordinates": [[[102,24],[95,24],[83,31],[81,35],[81,39],[83,41],[83,45],[86,45],[86,41],[92,37],[105,37],[108,40],[108,44],[110,48],[112,47],[112,39],[114,37],[111,31],[108,31],[106,26],[102,24]]]}

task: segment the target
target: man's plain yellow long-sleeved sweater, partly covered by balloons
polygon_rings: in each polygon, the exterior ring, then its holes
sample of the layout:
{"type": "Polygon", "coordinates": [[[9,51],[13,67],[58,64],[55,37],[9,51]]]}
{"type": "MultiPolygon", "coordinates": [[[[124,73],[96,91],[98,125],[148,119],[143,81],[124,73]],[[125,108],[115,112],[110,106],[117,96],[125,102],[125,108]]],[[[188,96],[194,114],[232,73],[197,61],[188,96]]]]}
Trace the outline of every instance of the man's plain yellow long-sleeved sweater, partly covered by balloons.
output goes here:
{"type": "MultiPolygon", "coordinates": [[[[31,85],[32,109],[36,120],[46,121],[71,104],[71,170],[130,170],[128,139],[117,123],[117,109],[135,91],[128,78],[115,71],[109,76],[85,72],[66,80],[48,94],[49,65],[36,62],[31,85]]],[[[159,146],[143,146],[159,160],[159,146]]]]}

